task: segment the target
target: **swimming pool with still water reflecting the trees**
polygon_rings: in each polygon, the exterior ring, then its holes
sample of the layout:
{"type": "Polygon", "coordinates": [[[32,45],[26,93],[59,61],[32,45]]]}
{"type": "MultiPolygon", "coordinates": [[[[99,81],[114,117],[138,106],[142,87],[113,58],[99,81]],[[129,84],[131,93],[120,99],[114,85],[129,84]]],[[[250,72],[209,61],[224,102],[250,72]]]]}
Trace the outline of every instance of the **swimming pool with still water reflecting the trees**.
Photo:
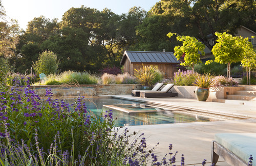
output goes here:
{"type": "MultiPolygon", "coordinates": [[[[155,125],[155,124],[170,124],[170,123],[188,123],[188,122],[209,122],[230,120],[228,117],[214,116],[211,114],[200,114],[191,112],[190,110],[161,108],[159,106],[148,106],[143,102],[130,101],[116,98],[93,97],[86,98],[86,106],[94,114],[100,115],[105,110],[113,110],[113,117],[116,119],[117,126],[137,126],[137,125],[155,125]],[[106,106],[103,106],[106,105],[106,106]],[[120,111],[109,105],[114,105],[121,108],[135,109],[132,113],[120,111]],[[139,106],[138,106],[139,105],[139,106]],[[145,112],[136,112],[136,109],[145,112]]],[[[232,118],[233,119],[233,118],[232,118]]]]}

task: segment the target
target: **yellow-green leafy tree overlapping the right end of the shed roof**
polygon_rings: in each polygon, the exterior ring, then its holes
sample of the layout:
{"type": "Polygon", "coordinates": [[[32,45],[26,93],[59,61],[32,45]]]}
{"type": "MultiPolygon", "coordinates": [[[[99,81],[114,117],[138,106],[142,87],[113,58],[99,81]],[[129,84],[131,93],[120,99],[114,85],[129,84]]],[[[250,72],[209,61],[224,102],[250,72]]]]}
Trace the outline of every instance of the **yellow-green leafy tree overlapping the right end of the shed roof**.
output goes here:
{"type": "MultiPolygon", "coordinates": [[[[167,36],[170,38],[173,35],[173,33],[168,33],[167,36]]],[[[189,66],[194,71],[194,66],[197,63],[202,63],[200,60],[200,56],[205,56],[204,48],[205,45],[201,42],[199,42],[195,37],[190,36],[179,36],[177,35],[177,40],[183,42],[182,46],[176,46],[174,48],[175,50],[175,57],[177,60],[179,60],[183,54],[185,53],[184,62],[182,62],[180,65],[182,66],[189,66]],[[201,54],[200,54],[200,52],[201,54]]]]}

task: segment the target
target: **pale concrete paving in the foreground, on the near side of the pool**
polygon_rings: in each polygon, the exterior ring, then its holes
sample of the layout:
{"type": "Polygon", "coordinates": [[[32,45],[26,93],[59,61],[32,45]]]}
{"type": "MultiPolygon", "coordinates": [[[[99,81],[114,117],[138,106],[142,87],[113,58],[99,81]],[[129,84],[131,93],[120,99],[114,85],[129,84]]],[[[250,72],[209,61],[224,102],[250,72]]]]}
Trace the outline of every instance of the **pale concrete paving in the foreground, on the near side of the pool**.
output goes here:
{"type": "MultiPolygon", "coordinates": [[[[211,161],[211,144],[216,133],[253,133],[256,120],[160,124],[128,128],[131,132],[143,132],[148,148],[153,148],[160,143],[155,150],[155,154],[160,156],[159,159],[169,153],[168,146],[173,144],[172,152],[178,151],[178,163],[180,163],[181,154],[184,154],[185,164],[195,165],[201,164],[204,159],[211,161]]],[[[219,161],[224,160],[220,158],[219,161]]],[[[228,164],[220,162],[217,165],[228,164]]]]}

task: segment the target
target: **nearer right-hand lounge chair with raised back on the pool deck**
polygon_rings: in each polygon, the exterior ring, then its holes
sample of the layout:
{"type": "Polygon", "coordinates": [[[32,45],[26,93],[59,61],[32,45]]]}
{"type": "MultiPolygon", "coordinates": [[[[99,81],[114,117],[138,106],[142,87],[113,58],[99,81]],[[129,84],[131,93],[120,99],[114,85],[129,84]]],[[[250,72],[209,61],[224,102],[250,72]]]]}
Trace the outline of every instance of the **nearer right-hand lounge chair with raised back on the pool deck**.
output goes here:
{"type": "Polygon", "coordinates": [[[175,97],[178,93],[170,91],[174,87],[174,84],[167,84],[161,91],[141,91],[140,97],[175,97]],[[168,92],[170,91],[170,92],[168,92]]]}

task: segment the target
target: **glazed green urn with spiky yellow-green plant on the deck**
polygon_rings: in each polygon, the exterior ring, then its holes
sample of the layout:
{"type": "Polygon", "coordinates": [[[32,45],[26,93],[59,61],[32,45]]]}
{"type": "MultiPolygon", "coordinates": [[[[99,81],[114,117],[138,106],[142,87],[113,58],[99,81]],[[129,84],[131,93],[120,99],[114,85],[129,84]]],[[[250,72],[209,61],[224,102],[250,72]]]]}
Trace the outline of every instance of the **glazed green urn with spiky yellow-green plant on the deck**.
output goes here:
{"type": "Polygon", "coordinates": [[[195,86],[198,86],[195,91],[198,101],[207,100],[210,94],[209,88],[211,87],[211,84],[212,80],[209,73],[199,75],[199,77],[196,79],[196,82],[194,83],[195,86]]]}

